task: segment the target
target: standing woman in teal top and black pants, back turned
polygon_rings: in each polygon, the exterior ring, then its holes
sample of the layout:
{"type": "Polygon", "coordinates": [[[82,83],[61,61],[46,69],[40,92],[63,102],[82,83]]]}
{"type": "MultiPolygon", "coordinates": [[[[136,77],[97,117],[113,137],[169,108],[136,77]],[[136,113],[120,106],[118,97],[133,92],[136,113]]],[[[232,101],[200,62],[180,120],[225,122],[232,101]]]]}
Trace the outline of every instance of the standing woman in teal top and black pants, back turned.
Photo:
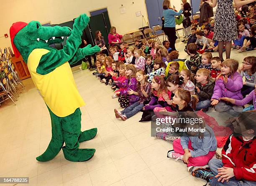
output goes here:
{"type": "Polygon", "coordinates": [[[164,0],[163,2],[163,16],[164,16],[164,33],[168,37],[170,42],[170,47],[172,50],[176,51],[175,41],[177,39],[176,29],[175,29],[175,15],[179,16],[182,14],[183,5],[179,12],[175,12],[171,8],[171,3],[169,0],[164,0]]]}

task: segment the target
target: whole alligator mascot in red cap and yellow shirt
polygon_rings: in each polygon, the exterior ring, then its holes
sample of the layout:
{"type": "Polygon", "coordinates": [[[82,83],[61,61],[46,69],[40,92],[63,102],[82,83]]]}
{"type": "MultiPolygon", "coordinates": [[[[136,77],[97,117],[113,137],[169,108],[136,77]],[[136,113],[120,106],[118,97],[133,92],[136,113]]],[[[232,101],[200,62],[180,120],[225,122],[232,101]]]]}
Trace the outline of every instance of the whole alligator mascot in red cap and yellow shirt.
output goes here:
{"type": "Polygon", "coordinates": [[[90,140],[97,128],[81,132],[81,111],[84,105],[69,64],[77,63],[84,56],[100,51],[98,46],[79,48],[82,31],[90,18],[83,14],[69,27],[41,26],[38,21],[17,22],[10,27],[10,38],[15,56],[27,63],[38,93],[44,99],[51,116],[52,137],[46,151],[38,161],[52,160],[59,151],[69,161],[87,161],[95,149],[79,149],[79,143],[90,140]],[[67,45],[61,50],[49,47],[61,43],[67,36],[67,45]],[[65,146],[63,146],[65,142],[65,146]]]}

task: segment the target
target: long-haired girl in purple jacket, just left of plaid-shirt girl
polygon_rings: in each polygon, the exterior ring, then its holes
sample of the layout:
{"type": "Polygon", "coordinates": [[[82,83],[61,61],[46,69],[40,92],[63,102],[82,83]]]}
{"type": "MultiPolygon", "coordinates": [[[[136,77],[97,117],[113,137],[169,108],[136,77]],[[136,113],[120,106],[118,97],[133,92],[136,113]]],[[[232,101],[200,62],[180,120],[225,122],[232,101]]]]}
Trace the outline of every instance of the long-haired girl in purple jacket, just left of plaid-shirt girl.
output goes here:
{"type": "MultiPolygon", "coordinates": [[[[127,91],[130,89],[132,89],[133,91],[136,91],[136,89],[137,89],[136,71],[137,70],[133,64],[128,64],[125,66],[126,79],[123,83],[121,83],[121,87],[127,87],[127,89],[121,90],[120,91],[121,95],[128,95],[127,91]]],[[[138,101],[138,99],[139,99],[139,97],[135,94],[129,95],[129,105],[134,104],[135,102],[138,101]]],[[[120,102],[120,106],[123,107],[122,100],[118,99],[118,101],[120,102]]],[[[129,106],[129,105],[127,105],[127,106],[129,106]]]]}

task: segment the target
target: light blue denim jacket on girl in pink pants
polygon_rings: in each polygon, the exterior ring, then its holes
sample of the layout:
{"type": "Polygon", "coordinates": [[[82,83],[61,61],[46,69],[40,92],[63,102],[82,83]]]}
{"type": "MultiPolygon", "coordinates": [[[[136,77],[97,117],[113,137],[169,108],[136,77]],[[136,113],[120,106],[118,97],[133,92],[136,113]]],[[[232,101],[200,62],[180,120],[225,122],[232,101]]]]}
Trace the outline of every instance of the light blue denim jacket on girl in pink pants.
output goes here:
{"type": "Polygon", "coordinates": [[[209,151],[215,151],[217,150],[217,140],[215,138],[214,132],[212,131],[212,128],[208,125],[205,125],[205,129],[209,130],[210,133],[205,130],[204,132],[204,138],[200,139],[198,136],[187,136],[184,135],[180,139],[180,143],[182,145],[182,148],[188,148],[189,140],[191,141],[191,145],[193,150],[190,150],[190,153],[193,158],[207,155],[209,151]]]}

